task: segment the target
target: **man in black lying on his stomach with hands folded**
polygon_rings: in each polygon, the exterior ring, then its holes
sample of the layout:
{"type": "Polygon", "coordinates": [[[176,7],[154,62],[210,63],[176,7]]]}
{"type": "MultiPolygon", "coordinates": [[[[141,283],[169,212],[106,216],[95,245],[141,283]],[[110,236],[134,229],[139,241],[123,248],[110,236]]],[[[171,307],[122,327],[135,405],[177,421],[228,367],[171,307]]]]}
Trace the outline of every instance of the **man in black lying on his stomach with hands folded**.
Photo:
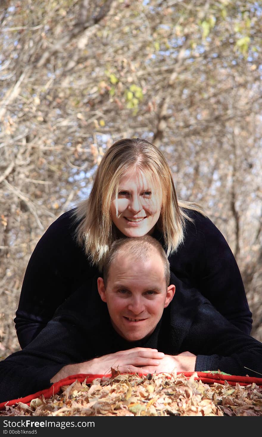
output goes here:
{"type": "Polygon", "coordinates": [[[197,290],[173,280],[176,290],[157,240],[114,242],[103,278],[71,295],[32,343],[0,363],[0,402],[111,367],[259,376],[262,343],[231,325],[197,290]]]}

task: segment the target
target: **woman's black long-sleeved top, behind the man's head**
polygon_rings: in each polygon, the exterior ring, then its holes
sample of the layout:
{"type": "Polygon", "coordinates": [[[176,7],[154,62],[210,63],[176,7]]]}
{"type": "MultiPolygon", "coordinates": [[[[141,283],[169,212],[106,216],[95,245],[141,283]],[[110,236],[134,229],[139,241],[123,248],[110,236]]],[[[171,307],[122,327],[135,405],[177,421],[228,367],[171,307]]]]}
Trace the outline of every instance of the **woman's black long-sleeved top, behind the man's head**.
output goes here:
{"type": "MultiPolygon", "coordinates": [[[[14,319],[22,348],[68,296],[98,273],[76,242],[73,211],[65,212],[49,226],[29,260],[14,319]]],[[[228,243],[209,218],[190,210],[187,213],[194,223],[187,221],[184,243],[169,257],[171,271],[184,284],[198,288],[231,323],[250,334],[252,313],[228,243]]],[[[164,247],[160,232],[153,236],[164,247]]]]}

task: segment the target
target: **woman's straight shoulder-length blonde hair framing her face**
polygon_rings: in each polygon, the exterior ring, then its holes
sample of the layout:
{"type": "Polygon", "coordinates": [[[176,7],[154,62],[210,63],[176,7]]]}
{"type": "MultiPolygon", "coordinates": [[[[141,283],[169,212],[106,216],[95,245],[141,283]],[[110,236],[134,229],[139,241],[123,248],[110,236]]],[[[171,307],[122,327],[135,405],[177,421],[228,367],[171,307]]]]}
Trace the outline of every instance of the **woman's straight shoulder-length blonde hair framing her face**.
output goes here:
{"type": "Polygon", "coordinates": [[[153,191],[162,197],[157,227],[163,232],[167,256],[183,242],[186,219],[192,221],[186,209],[203,214],[197,203],[177,201],[171,170],[156,146],[140,138],[116,141],[102,157],[88,199],[75,210],[78,243],[85,246],[86,255],[100,270],[109,246],[117,238],[110,204],[118,196],[120,179],[134,167],[150,179],[153,191]]]}

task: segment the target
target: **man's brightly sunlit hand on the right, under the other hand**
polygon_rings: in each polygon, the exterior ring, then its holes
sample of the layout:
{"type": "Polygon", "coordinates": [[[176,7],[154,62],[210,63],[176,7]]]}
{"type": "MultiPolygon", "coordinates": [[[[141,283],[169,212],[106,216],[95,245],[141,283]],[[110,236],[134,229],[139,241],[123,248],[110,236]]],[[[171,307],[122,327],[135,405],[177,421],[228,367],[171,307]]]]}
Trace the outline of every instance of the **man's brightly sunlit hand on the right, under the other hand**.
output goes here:
{"type": "Polygon", "coordinates": [[[158,366],[151,366],[149,371],[150,373],[172,373],[176,369],[177,372],[194,372],[196,359],[196,355],[191,354],[191,352],[182,352],[179,355],[165,355],[158,366]]]}

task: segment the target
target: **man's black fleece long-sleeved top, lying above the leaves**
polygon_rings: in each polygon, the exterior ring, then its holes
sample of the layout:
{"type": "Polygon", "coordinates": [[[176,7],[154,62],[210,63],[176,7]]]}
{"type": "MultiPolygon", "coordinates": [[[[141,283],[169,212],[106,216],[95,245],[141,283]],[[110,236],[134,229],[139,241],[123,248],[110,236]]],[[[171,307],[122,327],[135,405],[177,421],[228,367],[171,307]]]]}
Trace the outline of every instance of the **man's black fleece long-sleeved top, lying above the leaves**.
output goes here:
{"type": "Polygon", "coordinates": [[[185,288],[172,275],[171,283],[176,293],[154,332],[146,340],[128,342],[112,328],[96,277],[87,280],[27,347],[0,362],[0,402],[48,388],[66,364],[132,347],[170,355],[188,350],[197,355],[196,371],[258,376],[248,367],[262,373],[262,343],[229,323],[196,289],[185,288]]]}

